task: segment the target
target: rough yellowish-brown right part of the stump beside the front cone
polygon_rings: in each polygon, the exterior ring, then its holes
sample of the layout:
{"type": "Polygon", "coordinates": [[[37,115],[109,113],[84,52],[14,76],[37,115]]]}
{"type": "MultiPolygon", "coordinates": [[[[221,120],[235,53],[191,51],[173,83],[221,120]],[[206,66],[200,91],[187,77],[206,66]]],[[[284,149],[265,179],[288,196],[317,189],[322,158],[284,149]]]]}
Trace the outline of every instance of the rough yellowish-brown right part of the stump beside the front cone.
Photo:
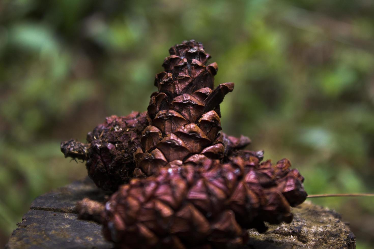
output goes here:
{"type": "Polygon", "coordinates": [[[337,212],[307,201],[292,213],[290,224],[269,225],[262,234],[249,230],[249,248],[356,248],[355,235],[337,212]]]}

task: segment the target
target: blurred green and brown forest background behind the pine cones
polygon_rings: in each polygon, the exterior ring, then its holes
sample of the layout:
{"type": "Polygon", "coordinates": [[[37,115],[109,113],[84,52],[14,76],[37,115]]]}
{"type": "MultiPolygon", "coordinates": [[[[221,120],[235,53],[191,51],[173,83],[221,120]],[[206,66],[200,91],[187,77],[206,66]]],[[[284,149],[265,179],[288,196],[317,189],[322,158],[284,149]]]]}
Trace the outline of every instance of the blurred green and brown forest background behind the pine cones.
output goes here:
{"type": "MultiPolygon", "coordinates": [[[[85,177],[61,140],[145,111],[168,49],[204,43],[234,82],[226,133],[289,158],[309,194],[374,192],[374,2],[1,0],[0,246],[31,201],[85,177]]],[[[374,199],[325,198],[357,248],[373,248],[374,199]]]]}

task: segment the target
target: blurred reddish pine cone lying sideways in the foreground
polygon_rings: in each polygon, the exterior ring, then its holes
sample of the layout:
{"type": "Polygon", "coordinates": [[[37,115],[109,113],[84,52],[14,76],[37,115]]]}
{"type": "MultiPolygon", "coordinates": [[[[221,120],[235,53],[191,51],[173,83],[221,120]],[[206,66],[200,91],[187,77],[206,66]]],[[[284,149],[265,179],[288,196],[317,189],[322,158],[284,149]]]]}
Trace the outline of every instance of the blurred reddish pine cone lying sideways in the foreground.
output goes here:
{"type": "Polygon", "coordinates": [[[117,248],[238,248],[248,228],[291,222],[304,178],[287,159],[259,165],[256,153],[239,154],[225,164],[194,155],[131,180],[106,203],[105,238],[117,248]]]}

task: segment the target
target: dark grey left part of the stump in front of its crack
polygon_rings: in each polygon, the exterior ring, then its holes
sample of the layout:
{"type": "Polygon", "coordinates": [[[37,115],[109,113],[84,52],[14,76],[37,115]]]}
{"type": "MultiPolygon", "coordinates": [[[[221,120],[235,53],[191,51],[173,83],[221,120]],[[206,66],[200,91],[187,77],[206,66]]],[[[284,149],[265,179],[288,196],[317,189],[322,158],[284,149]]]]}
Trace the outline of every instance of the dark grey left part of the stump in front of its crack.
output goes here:
{"type": "Polygon", "coordinates": [[[8,248],[112,248],[101,225],[77,214],[30,210],[10,237],[8,248]]]}

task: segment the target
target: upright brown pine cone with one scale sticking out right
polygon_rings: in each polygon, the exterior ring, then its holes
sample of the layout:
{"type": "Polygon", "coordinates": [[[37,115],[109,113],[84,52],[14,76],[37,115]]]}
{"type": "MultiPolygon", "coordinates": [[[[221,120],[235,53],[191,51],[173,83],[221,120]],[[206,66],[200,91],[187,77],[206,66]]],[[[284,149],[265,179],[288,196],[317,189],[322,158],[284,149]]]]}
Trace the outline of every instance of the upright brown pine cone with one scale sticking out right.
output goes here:
{"type": "Polygon", "coordinates": [[[159,91],[151,95],[149,126],[142,132],[142,148],[135,153],[135,177],[157,174],[163,166],[191,155],[224,157],[219,104],[234,84],[220,84],[213,90],[217,63],[205,66],[210,55],[201,43],[184,41],[169,53],[165,71],[155,78],[159,91]]]}

